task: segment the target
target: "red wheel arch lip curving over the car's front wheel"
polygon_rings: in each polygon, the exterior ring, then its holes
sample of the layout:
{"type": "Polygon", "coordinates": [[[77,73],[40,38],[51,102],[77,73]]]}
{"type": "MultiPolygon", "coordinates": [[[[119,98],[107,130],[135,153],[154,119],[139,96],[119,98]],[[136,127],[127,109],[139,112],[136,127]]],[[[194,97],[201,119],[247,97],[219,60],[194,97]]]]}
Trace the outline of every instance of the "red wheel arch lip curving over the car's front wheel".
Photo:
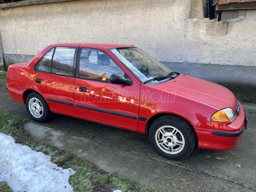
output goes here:
{"type": "Polygon", "coordinates": [[[184,118],[182,116],[179,116],[179,115],[175,115],[173,113],[158,113],[154,116],[151,116],[150,119],[148,120],[147,124],[146,124],[145,134],[148,135],[148,131],[149,131],[151,125],[157,120],[157,118],[160,118],[161,116],[165,116],[165,115],[178,116],[179,118],[182,118],[182,120],[184,120],[187,124],[191,125],[191,127],[193,129],[193,132],[195,134],[195,140],[196,140],[195,147],[197,148],[198,147],[198,137],[197,137],[197,134],[196,134],[196,131],[195,131],[195,127],[188,120],[186,120],[186,118],[184,118]]]}

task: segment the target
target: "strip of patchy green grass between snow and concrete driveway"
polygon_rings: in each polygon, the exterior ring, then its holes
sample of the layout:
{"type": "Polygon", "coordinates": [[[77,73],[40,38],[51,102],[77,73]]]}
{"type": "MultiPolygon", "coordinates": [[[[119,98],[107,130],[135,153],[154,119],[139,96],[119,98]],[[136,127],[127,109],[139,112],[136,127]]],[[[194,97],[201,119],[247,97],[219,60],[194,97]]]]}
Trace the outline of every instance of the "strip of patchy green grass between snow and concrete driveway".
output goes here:
{"type": "MultiPolygon", "coordinates": [[[[120,189],[121,191],[163,191],[155,186],[148,186],[140,182],[121,177],[119,175],[100,170],[97,166],[88,161],[74,156],[66,150],[37,143],[32,140],[28,132],[24,130],[24,123],[21,118],[0,111],[0,132],[8,134],[14,138],[16,143],[27,145],[33,150],[43,152],[47,156],[51,156],[51,161],[58,164],[62,168],[72,168],[76,173],[70,176],[69,183],[74,191],[113,191],[120,189]]],[[[0,191],[12,191],[6,182],[0,182],[0,191]]]]}

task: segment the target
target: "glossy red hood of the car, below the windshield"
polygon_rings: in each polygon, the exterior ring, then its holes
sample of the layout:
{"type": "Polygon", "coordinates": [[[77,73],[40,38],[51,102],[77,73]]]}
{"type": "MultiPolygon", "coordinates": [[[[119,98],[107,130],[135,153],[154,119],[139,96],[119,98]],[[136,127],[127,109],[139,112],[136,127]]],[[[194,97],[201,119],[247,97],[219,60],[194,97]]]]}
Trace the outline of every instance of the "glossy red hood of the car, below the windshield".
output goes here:
{"type": "Polygon", "coordinates": [[[172,81],[154,84],[154,86],[161,90],[199,100],[219,109],[236,108],[236,97],[230,90],[220,84],[196,77],[180,74],[179,77],[172,79],[172,81]]]}

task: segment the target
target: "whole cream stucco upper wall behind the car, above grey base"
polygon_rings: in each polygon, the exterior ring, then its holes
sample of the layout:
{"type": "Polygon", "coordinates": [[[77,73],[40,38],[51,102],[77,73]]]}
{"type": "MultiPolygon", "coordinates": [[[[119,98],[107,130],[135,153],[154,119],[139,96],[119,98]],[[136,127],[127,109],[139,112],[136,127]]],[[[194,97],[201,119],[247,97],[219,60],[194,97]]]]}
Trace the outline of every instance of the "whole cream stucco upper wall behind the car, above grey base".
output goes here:
{"type": "Polygon", "coordinates": [[[189,19],[190,0],[97,0],[0,10],[4,54],[60,42],[132,44],[160,61],[256,66],[256,20],[189,19]]]}

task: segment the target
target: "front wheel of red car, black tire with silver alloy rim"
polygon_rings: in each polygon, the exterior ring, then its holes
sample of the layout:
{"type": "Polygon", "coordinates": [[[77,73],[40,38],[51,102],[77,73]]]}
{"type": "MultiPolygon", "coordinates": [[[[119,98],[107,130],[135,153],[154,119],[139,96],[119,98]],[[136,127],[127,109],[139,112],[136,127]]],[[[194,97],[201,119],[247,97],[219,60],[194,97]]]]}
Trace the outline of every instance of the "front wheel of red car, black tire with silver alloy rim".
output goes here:
{"type": "Polygon", "coordinates": [[[179,116],[157,118],[150,126],[148,137],[156,151],[166,159],[185,159],[195,148],[193,128],[179,116]]]}

